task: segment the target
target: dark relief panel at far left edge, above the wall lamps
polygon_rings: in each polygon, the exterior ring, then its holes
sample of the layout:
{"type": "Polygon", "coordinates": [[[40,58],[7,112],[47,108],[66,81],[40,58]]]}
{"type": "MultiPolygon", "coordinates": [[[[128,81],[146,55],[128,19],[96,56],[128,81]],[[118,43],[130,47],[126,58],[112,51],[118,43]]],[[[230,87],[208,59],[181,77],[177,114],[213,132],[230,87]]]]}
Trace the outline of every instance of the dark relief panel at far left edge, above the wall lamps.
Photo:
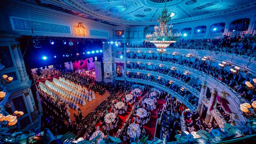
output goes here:
{"type": "Polygon", "coordinates": [[[0,59],[1,64],[3,64],[5,68],[10,68],[13,66],[12,57],[8,46],[0,46],[0,59]]]}

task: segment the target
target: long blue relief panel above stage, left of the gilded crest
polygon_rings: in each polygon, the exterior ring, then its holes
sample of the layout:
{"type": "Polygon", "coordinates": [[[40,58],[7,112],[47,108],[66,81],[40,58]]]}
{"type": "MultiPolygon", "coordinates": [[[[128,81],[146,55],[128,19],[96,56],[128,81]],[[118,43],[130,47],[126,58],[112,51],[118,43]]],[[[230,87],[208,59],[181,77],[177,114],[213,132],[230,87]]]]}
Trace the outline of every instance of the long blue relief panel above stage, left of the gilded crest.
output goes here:
{"type": "Polygon", "coordinates": [[[28,31],[32,32],[47,32],[47,33],[61,33],[72,34],[71,27],[59,24],[52,24],[46,22],[40,22],[35,20],[29,20],[24,18],[11,17],[12,29],[15,31],[28,31]]]}

